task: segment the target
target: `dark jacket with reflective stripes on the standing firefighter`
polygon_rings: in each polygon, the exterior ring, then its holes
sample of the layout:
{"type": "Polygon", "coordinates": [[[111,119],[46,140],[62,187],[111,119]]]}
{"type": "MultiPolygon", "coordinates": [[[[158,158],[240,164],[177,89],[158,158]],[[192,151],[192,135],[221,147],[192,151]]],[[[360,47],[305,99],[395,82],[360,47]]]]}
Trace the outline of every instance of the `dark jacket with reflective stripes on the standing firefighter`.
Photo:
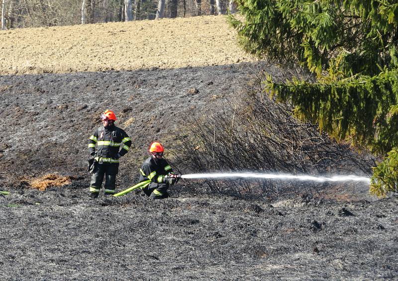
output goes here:
{"type": "Polygon", "coordinates": [[[115,125],[109,128],[100,126],[89,139],[89,153],[90,155],[96,153],[96,160],[99,163],[119,163],[118,158],[126,154],[130,146],[130,137],[115,125]]]}

